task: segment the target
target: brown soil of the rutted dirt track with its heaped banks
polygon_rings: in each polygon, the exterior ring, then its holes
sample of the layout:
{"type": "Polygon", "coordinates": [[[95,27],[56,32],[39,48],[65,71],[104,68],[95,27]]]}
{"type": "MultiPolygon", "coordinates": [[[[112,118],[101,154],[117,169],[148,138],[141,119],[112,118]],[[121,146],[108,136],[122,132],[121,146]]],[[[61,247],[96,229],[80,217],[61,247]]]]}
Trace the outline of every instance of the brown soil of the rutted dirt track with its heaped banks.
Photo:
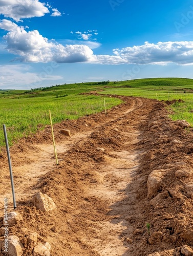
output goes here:
{"type": "MultiPolygon", "coordinates": [[[[192,131],[171,121],[162,102],[119,98],[124,103],[108,115],[54,125],[59,165],[50,126],[11,147],[16,211],[24,220],[10,227],[9,235],[19,237],[23,255],[33,253],[34,244],[26,237],[34,231],[39,242],[51,244],[51,255],[168,256],[183,255],[183,245],[192,247],[193,197],[186,184],[193,183],[193,176],[175,176],[182,166],[193,167],[192,131]],[[157,125],[148,129],[152,121],[157,125]],[[69,129],[72,136],[61,129],[69,129]],[[162,170],[164,177],[154,196],[147,197],[153,170],[162,170]],[[31,203],[37,191],[50,196],[57,209],[37,210],[31,203]]],[[[9,199],[9,211],[13,203],[5,151],[0,158],[3,216],[4,198],[9,199]]]]}

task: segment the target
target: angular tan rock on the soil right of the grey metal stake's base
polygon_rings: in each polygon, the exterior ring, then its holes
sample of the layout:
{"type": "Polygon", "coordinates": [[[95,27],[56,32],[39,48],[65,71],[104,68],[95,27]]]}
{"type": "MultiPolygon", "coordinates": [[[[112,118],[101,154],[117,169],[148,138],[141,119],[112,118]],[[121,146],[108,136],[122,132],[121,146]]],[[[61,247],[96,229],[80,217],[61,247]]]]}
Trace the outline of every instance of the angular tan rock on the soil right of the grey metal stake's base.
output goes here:
{"type": "Polygon", "coordinates": [[[36,193],[32,198],[33,205],[41,211],[50,211],[56,209],[56,205],[51,197],[41,192],[36,193]]]}

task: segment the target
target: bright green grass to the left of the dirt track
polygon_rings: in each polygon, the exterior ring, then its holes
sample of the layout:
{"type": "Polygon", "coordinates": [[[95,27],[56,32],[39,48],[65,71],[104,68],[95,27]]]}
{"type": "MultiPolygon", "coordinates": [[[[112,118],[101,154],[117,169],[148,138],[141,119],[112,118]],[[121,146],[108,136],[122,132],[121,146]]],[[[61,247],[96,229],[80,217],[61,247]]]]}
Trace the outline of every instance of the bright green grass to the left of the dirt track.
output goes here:
{"type": "MultiPolygon", "coordinates": [[[[26,96],[0,98],[1,125],[6,124],[10,145],[18,138],[35,133],[38,129],[43,129],[45,125],[50,124],[49,110],[52,113],[53,123],[65,119],[77,119],[104,110],[103,97],[94,95],[69,94],[65,97],[59,97],[55,93],[50,93],[49,96],[26,96]]],[[[110,109],[112,106],[120,104],[121,100],[105,97],[105,103],[106,108],[110,109]]],[[[2,126],[0,146],[3,145],[5,143],[2,126]]]]}

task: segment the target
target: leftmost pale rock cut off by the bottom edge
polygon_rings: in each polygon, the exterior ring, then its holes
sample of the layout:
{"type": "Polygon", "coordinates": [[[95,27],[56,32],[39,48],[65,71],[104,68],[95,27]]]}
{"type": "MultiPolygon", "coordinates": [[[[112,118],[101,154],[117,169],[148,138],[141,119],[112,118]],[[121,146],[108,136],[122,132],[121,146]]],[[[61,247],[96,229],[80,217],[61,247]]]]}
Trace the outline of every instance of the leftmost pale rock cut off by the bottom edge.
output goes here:
{"type": "Polygon", "coordinates": [[[17,236],[8,237],[8,255],[10,256],[22,256],[23,244],[19,242],[17,236]]]}

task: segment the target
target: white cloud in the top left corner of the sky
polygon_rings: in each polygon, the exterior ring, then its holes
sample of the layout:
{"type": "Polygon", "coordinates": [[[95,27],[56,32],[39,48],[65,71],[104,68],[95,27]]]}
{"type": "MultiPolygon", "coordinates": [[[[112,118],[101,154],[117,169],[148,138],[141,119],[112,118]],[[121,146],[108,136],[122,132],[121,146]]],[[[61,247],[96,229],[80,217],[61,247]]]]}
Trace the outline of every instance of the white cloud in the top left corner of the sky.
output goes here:
{"type": "Polygon", "coordinates": [[[45,3],[38,0],[0,0],[0,14],[16,22],[22,18],[41,17],[49,12],[45,3]]]}

